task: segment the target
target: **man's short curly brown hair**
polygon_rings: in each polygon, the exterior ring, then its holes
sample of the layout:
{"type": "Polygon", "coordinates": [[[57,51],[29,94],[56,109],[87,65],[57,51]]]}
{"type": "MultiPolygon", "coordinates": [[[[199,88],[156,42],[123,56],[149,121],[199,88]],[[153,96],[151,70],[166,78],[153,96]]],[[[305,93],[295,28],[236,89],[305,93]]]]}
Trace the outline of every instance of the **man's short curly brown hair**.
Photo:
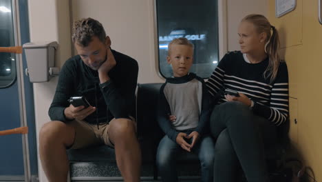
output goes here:
{"type": "Polygon", "coordinates": [[[74,43],[86,47],[92,41],[94,36],[105,43],[105,30],[99,21],[87,18],[74,22],[72,30],[72,41],[74,43]]]}

